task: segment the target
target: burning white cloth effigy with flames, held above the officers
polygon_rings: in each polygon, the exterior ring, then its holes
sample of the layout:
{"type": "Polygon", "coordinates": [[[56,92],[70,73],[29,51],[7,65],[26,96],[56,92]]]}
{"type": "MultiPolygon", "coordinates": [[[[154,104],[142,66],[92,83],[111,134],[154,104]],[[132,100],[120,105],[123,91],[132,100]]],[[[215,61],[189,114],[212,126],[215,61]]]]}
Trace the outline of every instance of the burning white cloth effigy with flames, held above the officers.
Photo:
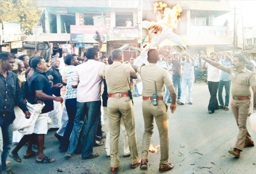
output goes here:
{"type": "Polygon", "coordinates": [[[183,40],[177,34],[172,32],[172,30],[178,26],[178,17],[180,16],[181,12],[182,9],[179,4],[170,8],[166,3],[154,3],[154,13],[161,14],[162,19],[157,22],[142,21],[142,28],[148,30],[148,36],[146,37],[148,44],[145,45],[140,56],[135,59],[134,65],[139,66],[142,64],[147,64],[148,50],[152,48],[159,48],[160,44],[165,39],[170,39],[173,42],[176,42],[184,51],[187,50],[183,40]]]}

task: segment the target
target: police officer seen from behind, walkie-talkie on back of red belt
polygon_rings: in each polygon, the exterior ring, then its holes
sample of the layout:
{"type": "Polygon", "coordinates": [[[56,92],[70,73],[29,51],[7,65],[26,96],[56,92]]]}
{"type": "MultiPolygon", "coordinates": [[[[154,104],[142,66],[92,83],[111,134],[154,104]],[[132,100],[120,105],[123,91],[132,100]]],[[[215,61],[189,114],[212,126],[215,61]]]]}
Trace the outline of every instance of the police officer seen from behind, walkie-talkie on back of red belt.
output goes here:
{"type": "Polygon", "coordinates": [[[153,134],[155,118],[156,125],[159,131],[160,137],[160,151],[161,159],[159,164],[159,171],[164,172],[171,170],[173,164],[168,164],[169,158],[169,139],[168,139],[168,113],[167,105],[163,101],[163,87],[164,84],[168,87],[167,90],[170,91],[172,98],[171,111],[174,113],[176,109],[176,92],[173,87],[172,79],[170,74],[166,69],[157,65],[159,60],[159,52],[156,49],[150,49],[148,51],[148,62],[149,65],[142,65],[138,68],[138,73],[141,75],[143,84],[143,103],[142,111],[144,118],[144,134],[143,134],[143,144],[142,144],[142,161],[141,170],[147,170],[148,162],[148,149],[150,146],[151,137],[153,134]],[[153,94],[157,96],[153,97],[153,94]],[[153,102],[153,99],[157,100],[157,103],[153,102]]]}

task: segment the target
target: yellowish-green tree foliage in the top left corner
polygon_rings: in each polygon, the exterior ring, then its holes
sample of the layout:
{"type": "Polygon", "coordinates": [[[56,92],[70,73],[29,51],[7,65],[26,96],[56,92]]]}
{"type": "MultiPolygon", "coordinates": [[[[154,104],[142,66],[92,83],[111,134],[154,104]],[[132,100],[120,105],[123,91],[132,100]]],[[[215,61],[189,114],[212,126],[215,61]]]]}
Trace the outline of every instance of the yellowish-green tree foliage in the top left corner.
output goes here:
{"type": "Polygon", "coordinates": [[[35,0],[1,0],[0,22],[21,22],[21,31],[32,34],[32,27],[37,25],[44,8],[36,6],[35,0]]]}

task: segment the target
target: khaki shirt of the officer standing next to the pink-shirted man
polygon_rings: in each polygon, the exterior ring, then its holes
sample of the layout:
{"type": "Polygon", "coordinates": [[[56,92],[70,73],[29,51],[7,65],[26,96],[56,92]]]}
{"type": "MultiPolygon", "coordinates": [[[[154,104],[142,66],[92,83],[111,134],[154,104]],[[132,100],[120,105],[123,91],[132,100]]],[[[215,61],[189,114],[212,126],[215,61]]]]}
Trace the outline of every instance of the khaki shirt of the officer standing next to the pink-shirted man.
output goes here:
{"type": "Polygon", "coordinates": [[[130,64],[114,61],[112,65],[103,66],[99,75],[106,79],[108,94],[114,94],[128,92],[130,76],[136,76],[136,72],[130,64]]]}

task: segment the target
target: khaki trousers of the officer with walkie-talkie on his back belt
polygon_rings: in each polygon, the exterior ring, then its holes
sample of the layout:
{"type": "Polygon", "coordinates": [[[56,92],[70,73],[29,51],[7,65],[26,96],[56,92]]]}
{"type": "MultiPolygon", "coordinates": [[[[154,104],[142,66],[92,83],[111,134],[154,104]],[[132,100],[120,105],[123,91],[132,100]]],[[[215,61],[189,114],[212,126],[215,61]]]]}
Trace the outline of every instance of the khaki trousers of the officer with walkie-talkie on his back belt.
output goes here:
{"type": "Polygon", "coordinates": [[[148,149],[150,146],[151,137],[154,128],[154,118],[158,128],[160,137],[160,166],[165,167],[168,164],[169,158],[169,138],[168,138],[168,114],[167,105],[158,100],[158,105],[154,106],[151,100],[143,100],[142,111],[144,118],[145,131],[143,134],[142,143],[142,159],[148,161],[148,149]]]}

